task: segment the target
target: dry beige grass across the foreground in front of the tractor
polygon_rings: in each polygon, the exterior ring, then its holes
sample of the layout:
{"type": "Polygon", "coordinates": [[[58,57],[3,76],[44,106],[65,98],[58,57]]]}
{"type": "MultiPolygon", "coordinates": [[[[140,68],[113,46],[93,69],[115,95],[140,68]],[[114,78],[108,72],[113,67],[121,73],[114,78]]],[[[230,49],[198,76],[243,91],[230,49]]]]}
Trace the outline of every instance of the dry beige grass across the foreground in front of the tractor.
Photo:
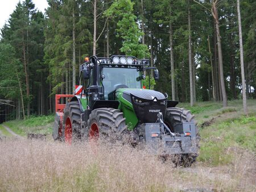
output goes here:
{"type": "Polygon", "coordinates": [[[0,142],[0,191],[254,191],[255,156],[238,149],[232,164],[174,168],[129,146],[0,142]]]}

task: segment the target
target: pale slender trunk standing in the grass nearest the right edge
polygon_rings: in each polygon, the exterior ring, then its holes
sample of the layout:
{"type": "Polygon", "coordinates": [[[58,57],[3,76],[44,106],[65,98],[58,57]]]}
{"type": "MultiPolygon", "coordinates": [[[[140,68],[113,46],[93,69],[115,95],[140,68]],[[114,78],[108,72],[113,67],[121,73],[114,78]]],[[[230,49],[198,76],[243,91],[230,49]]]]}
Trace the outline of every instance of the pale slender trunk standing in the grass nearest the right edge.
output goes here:
{"type": "Polygon", "coordinates": [[[242,94],[243,94],[243,111],[248,114],[245,93],[245,70],[243,68],[243,40],[242,40],[242,27],[240,15],[240,0],[237,0],[237,15],[238,15],[238,31],[239,31],[239,44],[240,44],[240,62],[241,62],[241,76],[242,76],[242,94]]]}

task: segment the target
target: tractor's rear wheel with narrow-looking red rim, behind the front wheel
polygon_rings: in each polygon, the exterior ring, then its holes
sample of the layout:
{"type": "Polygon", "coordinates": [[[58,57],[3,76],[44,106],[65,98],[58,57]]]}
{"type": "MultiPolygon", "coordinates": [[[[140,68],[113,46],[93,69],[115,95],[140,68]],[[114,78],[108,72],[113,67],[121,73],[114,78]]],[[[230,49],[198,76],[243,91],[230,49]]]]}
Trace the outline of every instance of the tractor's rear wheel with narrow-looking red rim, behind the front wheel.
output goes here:
{"type": "Polygon", "coordinates": [[[64,108],[63,140],[72,144],[81,139],[81,114],[79,101],[68,102],[64,108]]]}

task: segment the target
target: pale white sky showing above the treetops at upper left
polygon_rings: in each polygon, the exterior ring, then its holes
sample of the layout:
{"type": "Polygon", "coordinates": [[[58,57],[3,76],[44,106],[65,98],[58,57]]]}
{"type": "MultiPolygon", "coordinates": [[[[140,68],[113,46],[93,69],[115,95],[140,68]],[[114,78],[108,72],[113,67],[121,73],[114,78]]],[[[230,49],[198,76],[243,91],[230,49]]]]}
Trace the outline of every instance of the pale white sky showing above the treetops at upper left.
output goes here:
{"type": "MultiPolygon", "coordinates": [[[[9,16],[15,10],[18,2],[23,0],[0,0],[0,28],[3,27],[5,22],[9,19],[9,16]]],[[[47,8],[48,3],[46,0],[32,0],[35,4],[35,8],[44,13],[44,9],[47,8]]]]}

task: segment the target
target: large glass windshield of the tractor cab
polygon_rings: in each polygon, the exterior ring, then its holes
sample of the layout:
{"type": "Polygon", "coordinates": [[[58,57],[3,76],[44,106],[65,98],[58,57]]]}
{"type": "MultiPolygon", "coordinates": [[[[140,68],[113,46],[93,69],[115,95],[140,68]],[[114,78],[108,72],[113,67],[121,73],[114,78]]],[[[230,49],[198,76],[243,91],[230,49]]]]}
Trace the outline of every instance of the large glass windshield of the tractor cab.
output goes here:
{"type": "Polygon", "coordinates": [[[104,86],[104,97],[108,99],[108,94],[118,88],[138,88],[141,89],[141,81],[136,81],[140,76],[137,68],[103,68],[102,74],[105,78],[102,80],[104,86]]]}

